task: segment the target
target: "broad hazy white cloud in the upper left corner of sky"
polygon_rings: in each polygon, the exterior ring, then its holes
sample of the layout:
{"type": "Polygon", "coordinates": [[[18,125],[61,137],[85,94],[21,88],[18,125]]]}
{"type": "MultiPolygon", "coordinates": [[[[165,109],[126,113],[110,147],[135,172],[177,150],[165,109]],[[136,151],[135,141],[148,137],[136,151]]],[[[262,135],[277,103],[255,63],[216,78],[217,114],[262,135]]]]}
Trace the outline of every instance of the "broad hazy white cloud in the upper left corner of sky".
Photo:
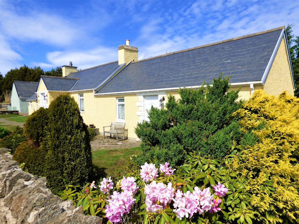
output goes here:
{"type": "Polygon", "coordinates": [[[80,31],[71,22],[54,13],[31,11],[19,15],[15,10],[0,9],[2,33],[21,41],[40,41],[46,44],[69,45],[80,31]]]}

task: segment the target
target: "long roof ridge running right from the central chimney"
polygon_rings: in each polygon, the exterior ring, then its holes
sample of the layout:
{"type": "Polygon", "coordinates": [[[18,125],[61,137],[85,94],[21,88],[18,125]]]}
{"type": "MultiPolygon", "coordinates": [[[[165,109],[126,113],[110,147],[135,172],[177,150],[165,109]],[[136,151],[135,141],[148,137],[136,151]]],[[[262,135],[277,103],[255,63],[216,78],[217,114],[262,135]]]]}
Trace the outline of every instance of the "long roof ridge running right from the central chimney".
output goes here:
{"type": "Polygon", "coordinates": [[[154,57],[151,57],[151,58],[146,58],[146,59],[134,61],[134,62],[131,62],[131,63],[134,64],[134,63],[138,63],[138,62],[147,61],[147,60],[150,60],[150,59],[164,57],[164,56],[171,55],[171,54],[181,53],[181,52],[185,52],[185,51],[189,51],[189,50],[195,50],[195,49],[203,48],[203,47],[209,47],[209,46],[212,46],[212,45],[222,44],[222,43],[225,43],[225,42],[231,42],[231,41],[234,41],[234,40],[244,39],[244,38],[251,37],[251,36],[257,36],[257,35],[264,34],[264,33],[270,33],[270,32],[273,32],[273,31],[282,30],[284,28],[285,28],[285,26],[276,27],[276,28],[273,28],[273,29],[270,29],[270,30],[264,30],[264,31],[260,31],[260,32],[257,32],[257,33],[252,33],[252,34],[247,34],[247,35],[244,35],[244,36],[234,37],[234,38],[230,38],[230,39],[226,39],[226,40],[222,40],[222,41],[213,42],[213,43],[210,43],[210,44],[200,45],[200,46],[197,46],[197,47],[191,47],[191,48],[187,48],[187,49],[184,49],[184,50],[178,50],[178,51],[174,51],[174,52],[171,52],[171,53],[162,54],[162,55],[154,56],[154,57]]]}

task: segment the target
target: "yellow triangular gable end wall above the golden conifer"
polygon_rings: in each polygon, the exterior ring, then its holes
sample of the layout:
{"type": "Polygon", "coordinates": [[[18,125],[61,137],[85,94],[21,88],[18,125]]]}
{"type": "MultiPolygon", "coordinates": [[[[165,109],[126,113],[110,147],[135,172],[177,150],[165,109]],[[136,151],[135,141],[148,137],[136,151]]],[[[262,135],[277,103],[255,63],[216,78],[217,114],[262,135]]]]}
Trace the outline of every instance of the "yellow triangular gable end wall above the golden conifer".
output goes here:
{"type": "Polygon", "coordinates": [[[279,95],[287,90],[294,96],[291,70],[288,62],[288,54],[285,46],[285,39],[281,41],[269,74],[266,78],[264,90],[271,95],[279,95]]]}

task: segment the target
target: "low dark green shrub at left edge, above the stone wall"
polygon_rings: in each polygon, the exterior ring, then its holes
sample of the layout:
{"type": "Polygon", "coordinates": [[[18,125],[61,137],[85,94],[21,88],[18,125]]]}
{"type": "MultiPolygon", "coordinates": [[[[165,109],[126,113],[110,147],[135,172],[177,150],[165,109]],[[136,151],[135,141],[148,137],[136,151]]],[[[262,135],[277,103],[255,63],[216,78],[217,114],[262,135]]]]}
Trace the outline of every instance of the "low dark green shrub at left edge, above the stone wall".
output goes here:
{"type": "Polygon", "coordinates": [[[10,148],[11,154],[13,154],[15,149],[20,145],[20,143],[25,140],[26,137],[23,134],[23,128],[17,126],[16,130],[14,130],[12,133],[0,140],[0,147],[10,148]]]}

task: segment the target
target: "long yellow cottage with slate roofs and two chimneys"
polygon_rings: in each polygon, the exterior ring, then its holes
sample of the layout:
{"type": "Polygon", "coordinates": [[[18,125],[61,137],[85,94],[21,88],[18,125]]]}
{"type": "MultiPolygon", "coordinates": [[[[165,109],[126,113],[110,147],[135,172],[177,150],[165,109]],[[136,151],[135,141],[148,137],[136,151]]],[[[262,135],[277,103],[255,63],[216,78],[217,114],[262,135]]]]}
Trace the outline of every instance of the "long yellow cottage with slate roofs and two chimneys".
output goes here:
{"type": "Polygon", "coordinates": [[[70,63],[62,70],[63,77],[42,76],[33,96],[35,106],[47,107],[67,92],[78,102],[87,125],[103,132],[103,126],[122,122],[126,136],[133,139],[136,124],[148,119],[152,105],[163,107],[170,94],[178,99],[179,88],[211,84],[221,72],[231,76],[230,90],[241,88],[240,99],[260,88],[273,95],[295,90],[285,27],[139,61],[138,48],[126,40],[118,47],[118,61],[80,71],[70,63]]]}

